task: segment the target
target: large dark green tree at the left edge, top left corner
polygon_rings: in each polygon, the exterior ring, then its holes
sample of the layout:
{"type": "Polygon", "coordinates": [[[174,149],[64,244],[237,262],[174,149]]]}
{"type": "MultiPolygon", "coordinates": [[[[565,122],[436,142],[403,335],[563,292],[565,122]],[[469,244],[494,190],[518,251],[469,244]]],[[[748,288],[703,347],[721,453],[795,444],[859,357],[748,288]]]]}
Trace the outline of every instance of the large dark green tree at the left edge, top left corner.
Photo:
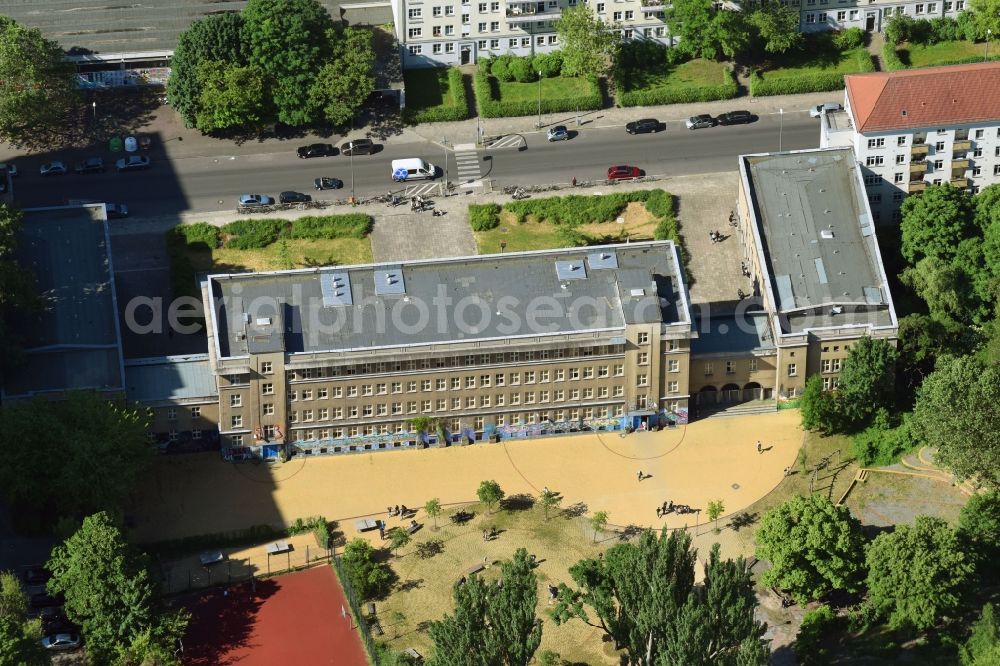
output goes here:
{"type": "Polygon", "coordinates": [[[75,74],[59,44],[0,16],[0,140],[33,150],[62,143],[80,103],[75,74]]]}

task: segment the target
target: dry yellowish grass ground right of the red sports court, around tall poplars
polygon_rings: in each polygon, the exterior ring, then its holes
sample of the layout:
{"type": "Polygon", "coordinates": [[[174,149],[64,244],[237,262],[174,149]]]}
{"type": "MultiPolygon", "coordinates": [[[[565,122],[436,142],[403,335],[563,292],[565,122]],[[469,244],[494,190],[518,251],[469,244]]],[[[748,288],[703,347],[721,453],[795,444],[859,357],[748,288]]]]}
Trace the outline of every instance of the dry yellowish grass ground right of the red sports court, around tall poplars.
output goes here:
{"type": "MultiPolygon", "coordinates": [[[[617,664],[618,657],[601,640],[602,632],[580,620],[570,620],[556,626],[547,614],[549,583],[571,582],[567,570],[577,561],[596,557],[603,550],[601,543],[593,544],[585,520],[577,517],[576,507],[550,509],[545,520],[541,507],[527,508],[527,503],[517,503],[517,509],[498,510],[487,515],[482,505],[463,507],[475,516],[465,524],[456,524],[450,516],[458,507],[438,518],[440,529],[435,531],[428,521],[417,532],[409,545],[401,549],[399,557],[390,559],[390,566],[399,576],[395,591],[378,603],[378,613],[385,640],[394,650],[412,647],[425,657],[432,654],[431,640],[426,628],[432,620],[440,620],[453,611],[452,586],[475,564],[482,564],[485,556],[492,565],[510,559],[517,548],[526,548],[538,558],[535,575],[538,578],[538,616],[542,619],[542,644],[536,656],[545,650],[558,652],[571,664],[617,664]],[[500,536],[484,543],[484,529],[496,527],[500,536]],[[418,544],[432,543],[438,551],[421,558],[418,544]]],[[[605,543],[617,543],[607,535],[605,543]]],[[[495,580],[499,567],[490,566],[482,573],[487,581],[495,580]]]]}

